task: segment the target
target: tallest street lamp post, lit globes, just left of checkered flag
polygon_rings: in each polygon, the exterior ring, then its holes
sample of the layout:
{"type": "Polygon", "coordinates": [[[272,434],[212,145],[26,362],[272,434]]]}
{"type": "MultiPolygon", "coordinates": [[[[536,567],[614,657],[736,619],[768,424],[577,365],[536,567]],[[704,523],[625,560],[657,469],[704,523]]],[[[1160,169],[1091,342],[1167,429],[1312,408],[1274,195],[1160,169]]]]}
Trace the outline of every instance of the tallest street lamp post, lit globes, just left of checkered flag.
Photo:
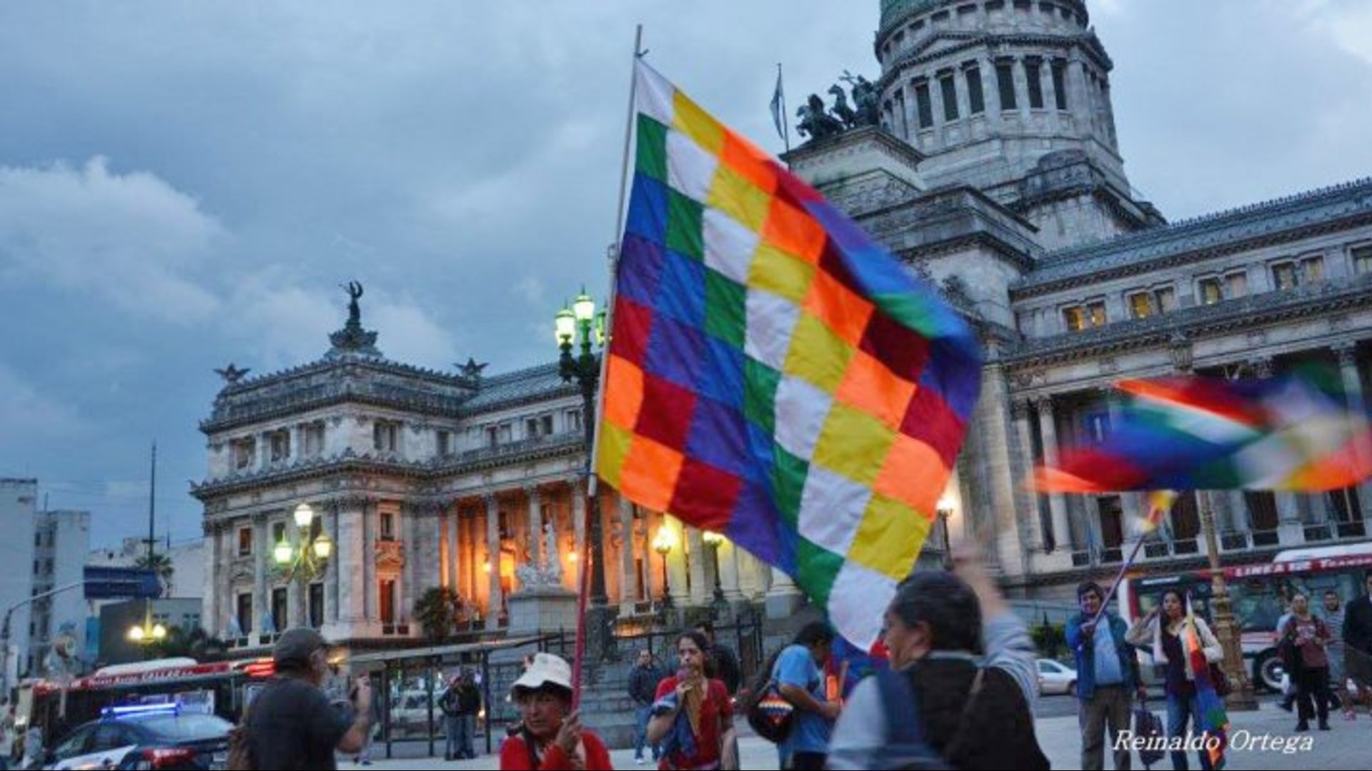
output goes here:
{"type": "Polygon", "coordinates": [[[586,442],[586,514],[590,519],[591,595],[586,612],[587,643],[601,659],[615,657],[615,639],[609,631],[609,598],[605,595],[605,535],[601,525],[600,501],[591,480],[595,460],[595,391],[600,386],[601,359],[595,348],[605,347],[605,311],[595,311],[595,300],[582,289],[571,310],[563,309],[553,318],[557,347],[561,350],[558,375],[564,383],[575,381],[582,391],[582,432],[586,442]],[[572,354],[573,346],[579,348],[572,354]]]}

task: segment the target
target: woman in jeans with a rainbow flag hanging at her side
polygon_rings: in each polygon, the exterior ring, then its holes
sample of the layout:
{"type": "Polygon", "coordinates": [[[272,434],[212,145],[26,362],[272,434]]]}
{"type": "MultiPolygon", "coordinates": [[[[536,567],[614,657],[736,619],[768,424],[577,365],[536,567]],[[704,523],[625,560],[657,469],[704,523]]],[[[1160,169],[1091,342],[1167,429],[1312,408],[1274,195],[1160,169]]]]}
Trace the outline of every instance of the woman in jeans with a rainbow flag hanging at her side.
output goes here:
{"type": "MultiPolygon", "coordinates": [[[[1214,722],[1222,716],[1222,705],[1220,716],[1209,713],[1213,701],[1218,700],[1210,685],[1209,664],[1222,661],[1224,649],[1205,619],[1195,617],[1190,601],[1180,591],[1174,589],[1163,591],[1152,612],[1129,628],[1125,641],[1151,650],[1154,663],[1165,668],[1162,690],[1168,696],[1169,738],[1187,739],[1188,726],[1199,734],[1210,735],[1224,730],[1224,724],[1214,722]]],[[[1221,744],[1222,741],[1221,738],[1221,744]]],[[[1200,768],[1216,768],[1216,760],[1206,748],[1200,749],[1200,768]]],[[[1185,749],[1172,750],[1172,768],[1174,771],[1190,768],[1185,749]]]]}

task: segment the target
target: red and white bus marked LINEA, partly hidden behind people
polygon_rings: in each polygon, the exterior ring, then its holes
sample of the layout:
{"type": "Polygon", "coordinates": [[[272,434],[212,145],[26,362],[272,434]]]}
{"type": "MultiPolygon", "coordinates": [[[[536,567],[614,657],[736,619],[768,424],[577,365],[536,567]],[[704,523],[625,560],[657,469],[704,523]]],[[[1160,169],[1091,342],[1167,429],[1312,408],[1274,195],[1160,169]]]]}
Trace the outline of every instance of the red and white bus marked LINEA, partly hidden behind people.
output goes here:
{"type": "MultiPolygon", "coordinates": [[[[1276,628],[1291,595],[1305,594],[1310,598],[1310,610],[1323,615],[1327,590],[1336,591],[1346,605],[1361,594],[1368,571],[1372,571],[1372,542],[1287,549],[1269,561],[1224,568],[1229,602],[1240,628],[1243,659],[1254,686],[1273,691],[1281,687],[1276,628]]],[[[1210,576],[1209,568],[1172,575],[1136,572],[1120,584],[1121,615],[1132,624],[1158,605],[1163,590],[1179,589],[1190,591],[1196,612],[1211,619],[1210,576]]]]}

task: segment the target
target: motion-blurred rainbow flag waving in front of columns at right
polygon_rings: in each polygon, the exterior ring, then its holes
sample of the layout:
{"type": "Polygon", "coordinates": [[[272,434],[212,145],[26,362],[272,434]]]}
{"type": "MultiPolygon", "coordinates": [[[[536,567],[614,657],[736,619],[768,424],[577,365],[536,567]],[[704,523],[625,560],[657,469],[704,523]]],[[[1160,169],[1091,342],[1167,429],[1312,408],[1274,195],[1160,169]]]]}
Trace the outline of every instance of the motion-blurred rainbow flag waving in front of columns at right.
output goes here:
{"type": "Polygon", "coordinates": [[[1125,380],[1132,401],[1098,444],[1036,471],[1044,493],[1323,491],[1372,476],[1368,416],[1317,370],[1261,380],[1125,380]]]}

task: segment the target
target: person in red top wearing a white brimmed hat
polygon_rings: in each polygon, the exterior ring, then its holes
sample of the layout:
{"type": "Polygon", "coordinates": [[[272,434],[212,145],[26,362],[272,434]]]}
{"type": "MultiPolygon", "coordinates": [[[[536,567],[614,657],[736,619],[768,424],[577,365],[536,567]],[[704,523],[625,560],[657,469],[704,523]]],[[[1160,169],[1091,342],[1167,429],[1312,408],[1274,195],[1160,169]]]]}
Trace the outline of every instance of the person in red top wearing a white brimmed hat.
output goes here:
{"type": "Polygon", "coordinates": [[[572,712],[572,668],[552,653],[534,656],[510,687],[523,726],[501,745],[502,770],[612,771],[609,750],[572,712]]]}

